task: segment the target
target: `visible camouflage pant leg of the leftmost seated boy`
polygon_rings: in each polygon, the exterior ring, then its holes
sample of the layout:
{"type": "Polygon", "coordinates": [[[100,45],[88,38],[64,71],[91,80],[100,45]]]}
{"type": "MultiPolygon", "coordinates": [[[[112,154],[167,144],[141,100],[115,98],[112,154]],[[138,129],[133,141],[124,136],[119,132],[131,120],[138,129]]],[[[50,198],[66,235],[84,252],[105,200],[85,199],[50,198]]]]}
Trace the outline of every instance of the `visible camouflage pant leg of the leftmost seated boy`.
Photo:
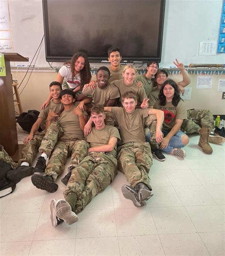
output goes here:
{"type": "Polygon", "coordinates": [[[22,158],[18,161],[19,165],[21,165],[23,161],[28,162],[29,165],[32,164],[44,135],[44,132],[34,135],[33,139],[31,139],[31,141],[27,143],[27,145],[22,150],[22,158]]]}

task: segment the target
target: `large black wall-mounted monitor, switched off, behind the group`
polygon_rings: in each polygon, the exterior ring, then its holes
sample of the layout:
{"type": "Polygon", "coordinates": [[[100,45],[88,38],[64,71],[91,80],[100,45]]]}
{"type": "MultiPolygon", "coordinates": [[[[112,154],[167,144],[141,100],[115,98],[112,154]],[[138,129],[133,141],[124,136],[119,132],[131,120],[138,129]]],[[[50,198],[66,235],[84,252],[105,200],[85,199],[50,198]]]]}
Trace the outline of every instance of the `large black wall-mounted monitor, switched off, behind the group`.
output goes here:
{"type": "Polygon", "coordinates": [[[160,62],[165,0],[42,0],[46,61],[85,52],[108,61],[108,48],[123,62],[160,62]]]}

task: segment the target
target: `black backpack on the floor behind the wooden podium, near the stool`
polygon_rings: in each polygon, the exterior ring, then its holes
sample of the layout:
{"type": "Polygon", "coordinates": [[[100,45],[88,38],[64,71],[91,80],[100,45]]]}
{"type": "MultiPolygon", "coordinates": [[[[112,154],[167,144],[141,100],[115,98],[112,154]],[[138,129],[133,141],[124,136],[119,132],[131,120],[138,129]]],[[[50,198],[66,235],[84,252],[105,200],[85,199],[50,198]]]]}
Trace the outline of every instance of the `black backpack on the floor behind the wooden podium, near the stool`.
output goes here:
{"type": "MultiPolygon", "coordinates": [[[[40,112],[37,110],[28,110],[28,112],[23,112],[17,117],[17,122],[24,131],[30,132],[33,124],[37,121],[39,114],[40,112]]],[[[39,127],[38,132],[41,131],[42,129],[39,127]]]]}

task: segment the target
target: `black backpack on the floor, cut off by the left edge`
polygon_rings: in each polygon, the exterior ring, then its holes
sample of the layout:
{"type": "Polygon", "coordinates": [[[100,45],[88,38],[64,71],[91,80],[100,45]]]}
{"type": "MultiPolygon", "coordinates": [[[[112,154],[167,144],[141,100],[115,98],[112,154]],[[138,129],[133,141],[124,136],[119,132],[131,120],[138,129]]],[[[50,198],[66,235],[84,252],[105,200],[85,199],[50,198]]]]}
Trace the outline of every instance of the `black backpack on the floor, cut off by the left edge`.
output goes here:
{"type": "Polygon", "coordinates": [[[16,188],[16,182],[6,178],[6,174],[10,170],[10,164],[0,160],[0,198],[12,193],[16,188]]]}

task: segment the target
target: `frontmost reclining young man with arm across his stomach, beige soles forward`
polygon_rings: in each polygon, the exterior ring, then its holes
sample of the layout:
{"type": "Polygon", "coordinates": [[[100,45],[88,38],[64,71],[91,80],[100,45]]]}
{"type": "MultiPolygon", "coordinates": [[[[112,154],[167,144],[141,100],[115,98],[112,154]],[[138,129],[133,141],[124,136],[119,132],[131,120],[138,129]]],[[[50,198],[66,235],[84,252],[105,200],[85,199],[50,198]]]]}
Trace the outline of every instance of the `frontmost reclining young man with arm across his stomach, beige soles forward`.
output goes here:
{"type": "Polygon", "coordinates": [[[65,200],[51,201],[52,226],[57,226],[62,221],[66,224],[78,221],[77,214],[95,195],[107,188],[117,174],[116,147],[120,134],[117,128],[105,125],[102,105],[92,108],[91,119],[95,127],[87,136],[87,142],[90,144],[88,154],[72,169],[63,193],[65,200]]]}

